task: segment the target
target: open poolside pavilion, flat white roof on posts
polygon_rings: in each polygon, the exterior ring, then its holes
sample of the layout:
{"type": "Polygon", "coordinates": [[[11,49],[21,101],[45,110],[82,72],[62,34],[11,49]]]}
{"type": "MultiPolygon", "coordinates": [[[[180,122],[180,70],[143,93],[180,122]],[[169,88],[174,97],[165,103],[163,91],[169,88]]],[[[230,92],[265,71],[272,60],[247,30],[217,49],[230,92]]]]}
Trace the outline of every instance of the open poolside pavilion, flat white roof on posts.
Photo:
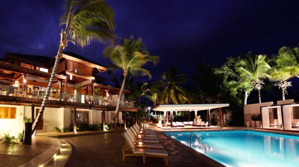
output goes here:
{"type": "MultiPolygon", "coordinates": [[[[207,110],[208,112],[208,127],[210,127],[210,109],[216,109],[221,107],[228,107],[229,104],[161,104],[153,108],[153,111],[163,111],[164,119],[166,118],[166,112],[170,111],[170,127],[173,127],[173,111],[199,111],[207,110]]],[[[197,114],[195,112],[195,118],[197,114]]]]}

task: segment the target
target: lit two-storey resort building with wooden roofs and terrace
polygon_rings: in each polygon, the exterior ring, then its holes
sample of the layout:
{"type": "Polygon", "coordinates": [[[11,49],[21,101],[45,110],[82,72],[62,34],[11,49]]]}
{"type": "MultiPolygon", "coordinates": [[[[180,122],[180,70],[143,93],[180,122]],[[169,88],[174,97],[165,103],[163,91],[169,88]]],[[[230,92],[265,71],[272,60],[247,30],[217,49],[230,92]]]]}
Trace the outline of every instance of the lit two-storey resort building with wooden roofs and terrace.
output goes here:
{"type": "MultiPolygon", "coordinates": [[[[55,58],[6,53],[0,61],[0,134],[22,132],[23,118],[36,117],[55,58]]],[[[64,52],[37,132],[68,127],[74,116],[77,124],[110,124],[120,89],[101,84],[105,79],[99,75],[106,70],[94,61],[64,52]]],[[[123,123],[123,113],[137,111],[134,102],[124,96],[119,110],[118,123],[123,123]]]]}

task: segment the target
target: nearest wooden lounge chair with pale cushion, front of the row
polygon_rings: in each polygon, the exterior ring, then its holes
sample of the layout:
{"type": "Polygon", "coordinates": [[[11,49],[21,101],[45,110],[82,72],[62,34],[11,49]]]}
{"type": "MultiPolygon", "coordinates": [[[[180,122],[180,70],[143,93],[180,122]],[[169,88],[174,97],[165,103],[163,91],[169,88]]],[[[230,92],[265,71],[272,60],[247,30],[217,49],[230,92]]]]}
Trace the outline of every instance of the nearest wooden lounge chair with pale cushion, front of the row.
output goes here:
{"type": "Polygon", "coordinates": [[[125,161],[125,157],[128,156],[141,156],[143,157],[143,163],[145,164],[145,157],[161,157],[166,161],[166,166],[168,166],[168,153],[165,150],[161,149],[140,149],[136,148],[132,141],[128,140],[129,136],[127,133],[123,133],[123,136],[127,138],[128,146],[123,146],[123,162],[125,161]]]}

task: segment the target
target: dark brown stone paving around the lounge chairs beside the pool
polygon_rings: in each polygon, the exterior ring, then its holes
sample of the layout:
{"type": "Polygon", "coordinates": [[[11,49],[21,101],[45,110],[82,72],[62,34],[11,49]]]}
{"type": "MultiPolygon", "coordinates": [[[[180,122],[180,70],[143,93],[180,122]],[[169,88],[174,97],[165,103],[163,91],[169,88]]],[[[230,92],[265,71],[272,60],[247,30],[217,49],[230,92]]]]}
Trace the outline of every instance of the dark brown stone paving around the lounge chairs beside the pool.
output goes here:
{"type": "MultiPolygon", "coordinates": [[[[210,166],[205,161],[194,157],[186,149],[168,140],[165,135],[159,132],[156,134],[168,152],[168,166],[210,166]]],[[[126,157],[125,162],[123,162],[121,149],[125,145],[125,140],[120,132],[63,139],[73,146],[73,153],[65,166],[166,166],[162,158],[155,157],[147,157],[146,164],[143,164],[142,157],[135,156],[126,157]]]]}

